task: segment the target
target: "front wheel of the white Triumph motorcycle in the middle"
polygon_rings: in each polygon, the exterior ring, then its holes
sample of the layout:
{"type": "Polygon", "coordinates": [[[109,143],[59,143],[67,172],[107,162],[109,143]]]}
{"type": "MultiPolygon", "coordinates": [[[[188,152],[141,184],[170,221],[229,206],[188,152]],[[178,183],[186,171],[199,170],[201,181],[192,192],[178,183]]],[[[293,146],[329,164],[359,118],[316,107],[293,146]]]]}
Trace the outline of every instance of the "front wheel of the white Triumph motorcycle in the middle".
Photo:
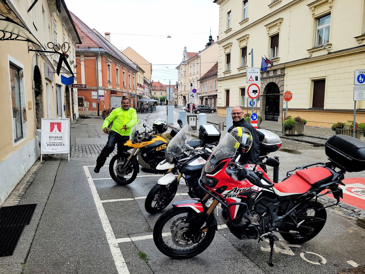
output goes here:
{"type": "Polygon", "coordinates": [[[155,184],[147,194],[145,209],[150,214],[156,214],[164,210],[175,197],[177,184],[175,181],[168,186],[155,184]]]}

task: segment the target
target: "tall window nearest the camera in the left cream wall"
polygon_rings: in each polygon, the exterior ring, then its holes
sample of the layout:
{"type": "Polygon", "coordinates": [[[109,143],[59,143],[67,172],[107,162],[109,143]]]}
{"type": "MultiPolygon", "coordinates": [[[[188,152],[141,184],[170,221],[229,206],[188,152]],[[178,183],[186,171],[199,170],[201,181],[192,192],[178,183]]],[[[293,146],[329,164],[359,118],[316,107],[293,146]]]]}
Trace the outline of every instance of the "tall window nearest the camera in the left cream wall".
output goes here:
{"type": "Polygon", "coordinates": [[[10,88],[13,109],[13,137],[14,142],[23,138],[22,102],[20,94],[20,71],[10,65],[10,88]]]}

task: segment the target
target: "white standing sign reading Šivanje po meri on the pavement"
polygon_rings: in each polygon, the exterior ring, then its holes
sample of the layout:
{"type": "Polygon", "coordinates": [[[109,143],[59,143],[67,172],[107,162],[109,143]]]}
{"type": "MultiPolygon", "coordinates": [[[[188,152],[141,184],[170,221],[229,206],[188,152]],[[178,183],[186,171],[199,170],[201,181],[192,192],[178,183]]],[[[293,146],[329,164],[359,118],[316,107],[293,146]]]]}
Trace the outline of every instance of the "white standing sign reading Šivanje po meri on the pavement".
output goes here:
{"type": "Polygon", "coordinates": [[[43,154],[63,153],[70,160],[70,119],[42,118],[41,161],[43,154]]]}

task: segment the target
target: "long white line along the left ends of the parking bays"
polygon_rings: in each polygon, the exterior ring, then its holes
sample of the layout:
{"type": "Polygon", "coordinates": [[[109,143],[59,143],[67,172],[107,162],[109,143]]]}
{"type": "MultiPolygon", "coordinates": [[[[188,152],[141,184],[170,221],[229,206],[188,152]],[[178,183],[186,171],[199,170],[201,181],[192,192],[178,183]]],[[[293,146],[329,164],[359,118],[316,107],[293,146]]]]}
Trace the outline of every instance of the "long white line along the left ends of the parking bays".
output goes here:
{"type": "Polygon", "coordinates": [[[101,203],[99,194],[97,194],[97,190],[96,190],[95,184],[93,182],[93,179],[91,178],[89,168],[87,166],[84,166],[84,171],[85,171],[85,175],[89,182],[91,193],[94,198],[95,205],[96,205],[97,213],[99,214],[101,224],[103,225],[105,236],[107,237],[109,248],[110,248],[111,254],[113,256],[114,263],[115,263],[116,269],[118,271],[118,274],[129,274],[127,264],[123,258],[122,252],[120,251],[120,248],[118,246],[118,241],[116,241],[114,232],[113,232],[110,222],[108,220],[107,214],[105,213],[103,204],[101,203]]]}

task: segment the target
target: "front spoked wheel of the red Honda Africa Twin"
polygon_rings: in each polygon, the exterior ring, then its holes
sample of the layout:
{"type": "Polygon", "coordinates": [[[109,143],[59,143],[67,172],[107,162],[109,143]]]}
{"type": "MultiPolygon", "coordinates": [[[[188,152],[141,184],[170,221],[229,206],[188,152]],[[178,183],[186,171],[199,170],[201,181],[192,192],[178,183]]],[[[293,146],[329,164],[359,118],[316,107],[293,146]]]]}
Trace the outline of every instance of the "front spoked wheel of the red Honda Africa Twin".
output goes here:
{"type": "Polygon", "coordinates": [[[158,250],[174,259],[187,259],[207,249],[214,238],[215,228],[189,235],[189,220],[195,214],[187,208],[172,208],[162,214],[153,229],[153,240],[158,250]]]}

